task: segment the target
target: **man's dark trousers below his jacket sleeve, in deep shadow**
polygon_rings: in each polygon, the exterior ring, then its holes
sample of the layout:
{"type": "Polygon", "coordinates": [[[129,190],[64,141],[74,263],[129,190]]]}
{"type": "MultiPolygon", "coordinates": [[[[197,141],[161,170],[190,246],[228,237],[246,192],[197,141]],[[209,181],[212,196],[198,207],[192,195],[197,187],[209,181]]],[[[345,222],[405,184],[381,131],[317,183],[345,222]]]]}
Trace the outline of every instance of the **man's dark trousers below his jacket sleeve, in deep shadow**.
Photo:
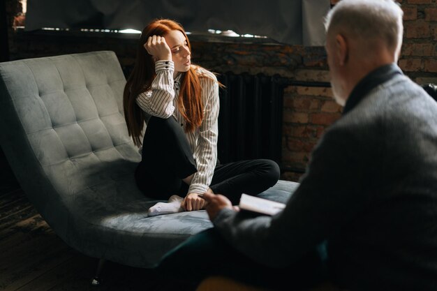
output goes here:
{"type": "Polygon", "coordinates": [[[287,267],[267,267],[235,250],[213,227],[190,237],[167,253],[153,269],[168,285],[195,290],[208,276],[225,276],[272,290],[308,290],[326,281],[325,242],[287,267]]]}

